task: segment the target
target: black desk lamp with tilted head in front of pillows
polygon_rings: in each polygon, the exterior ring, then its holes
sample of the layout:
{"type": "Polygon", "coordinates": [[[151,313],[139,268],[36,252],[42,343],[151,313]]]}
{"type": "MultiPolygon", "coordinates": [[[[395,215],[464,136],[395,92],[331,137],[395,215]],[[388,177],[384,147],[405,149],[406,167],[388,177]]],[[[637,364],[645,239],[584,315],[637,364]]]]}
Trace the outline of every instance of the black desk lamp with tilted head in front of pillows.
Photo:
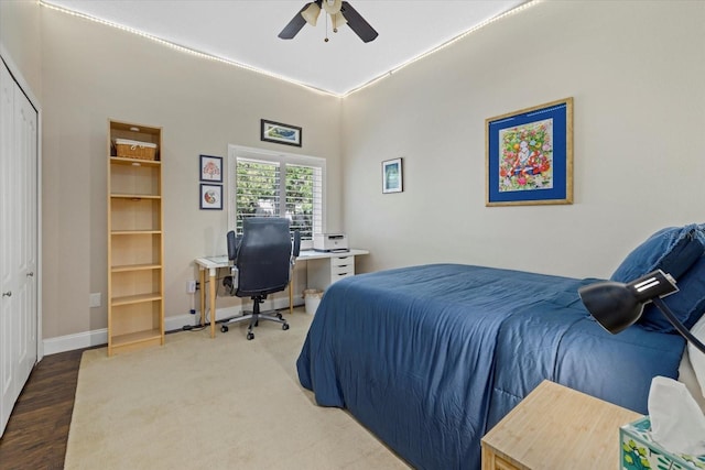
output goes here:
{"type": "Polygon", "coordinates": [[[698,341],[661,300],[661,297],[677,291],[671,274],[657,270],[627,284],[614,281],[597,282],[578,288],[577,293],[587,311],[612,335],[633,325],[641,316],[643,306],[653,302],[671,325],[705,353],[705,345],[698,341]]]}

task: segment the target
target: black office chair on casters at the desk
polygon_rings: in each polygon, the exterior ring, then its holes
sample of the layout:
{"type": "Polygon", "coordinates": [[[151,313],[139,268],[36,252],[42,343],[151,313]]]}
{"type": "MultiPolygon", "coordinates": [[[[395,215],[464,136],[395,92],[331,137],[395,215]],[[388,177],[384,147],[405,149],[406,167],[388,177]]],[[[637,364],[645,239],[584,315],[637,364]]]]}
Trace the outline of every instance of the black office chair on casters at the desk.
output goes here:
{"type": "Polygon", "coordinates": [[[252,310],[242,311],[241,316],[228,319],[220,331],[228,331],[228,325],[250,321],[247,339],[253,339],[252,327],[259,320],[276,321],[283,330],[289,324],[276,310],[260,311],[260,304],[269,294],[286,288],[293,274],[294,261],[299,256],[301,236],[292,234],[289,220],[275,217],[251,217],[242,220],[242,237],[228,232],[228,258],[232,262],[234,275],[226,286],[231,295],[250,297],[252,310]]]}

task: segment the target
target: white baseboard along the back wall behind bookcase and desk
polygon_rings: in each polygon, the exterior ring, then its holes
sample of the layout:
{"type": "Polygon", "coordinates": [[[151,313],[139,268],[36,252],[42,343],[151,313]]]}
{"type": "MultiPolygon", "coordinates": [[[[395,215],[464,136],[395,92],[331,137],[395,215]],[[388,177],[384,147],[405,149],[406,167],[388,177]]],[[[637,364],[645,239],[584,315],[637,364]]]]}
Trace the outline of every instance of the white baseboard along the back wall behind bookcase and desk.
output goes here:
{"type": "MultiPolygon", "coordinates": [[[[249,308],[249,304],[246,308],[249,308]]],[[[304,305],[304,300],[301,297],[294,297],[294,306],[304,305]]],[[[280,309],[288,308],[289,299],[288,298],[274,298],[268,299],[262,304],[262,309],[280,309]]],[[[216,321],[223,320],[225,318],[234,317],[237,315],[241,315],[242,308],[240,306],[227,307],[227,308],[217,308],[216,309],[216,321]]],[[[182,330],[184,326],[196,325],[200,321],[200,313],[196,311],[196,315],[177,315],[170,316],[164,318],[164,330],[165,331],[175,331],[182,330]]],[[[44,356],[56,354],[59,352],[73,351],[76,349],[83,348],[93,348],[96,346],[105,346],[108,343],[108,329],[100,328],[90,331],[84,331],[73,335],[58,336],[54,338],[45,338],[42,341],[44,346],[44,356]]]]}

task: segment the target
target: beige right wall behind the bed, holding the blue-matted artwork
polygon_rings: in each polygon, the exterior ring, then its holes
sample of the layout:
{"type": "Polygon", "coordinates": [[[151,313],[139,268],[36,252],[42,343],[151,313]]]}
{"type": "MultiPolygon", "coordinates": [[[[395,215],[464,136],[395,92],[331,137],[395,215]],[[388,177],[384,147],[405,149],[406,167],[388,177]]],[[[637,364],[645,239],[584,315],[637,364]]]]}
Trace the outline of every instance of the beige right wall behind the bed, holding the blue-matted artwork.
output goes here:
{"type": "Polygon", "coordinates": [[[345,229],[371,252],[358,269],[603,277],[657,229],[705,221],[703,24],[699,1],[546,1],[347,97],[345,229]],[[485,120],[566,97],[574,204],[485,207],[485,120]],[[404,192],[383,195],[381,162],[400,156],[404,192]]]}

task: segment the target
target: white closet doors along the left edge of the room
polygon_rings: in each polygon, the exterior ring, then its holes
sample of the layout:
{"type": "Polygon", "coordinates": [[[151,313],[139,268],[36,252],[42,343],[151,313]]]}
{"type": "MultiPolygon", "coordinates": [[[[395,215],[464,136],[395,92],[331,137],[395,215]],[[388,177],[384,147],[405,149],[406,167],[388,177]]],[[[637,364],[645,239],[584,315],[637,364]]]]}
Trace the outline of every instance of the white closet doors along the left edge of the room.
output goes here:
{"type": "Polygon", "coordinates": [[[0,62],[0,436],[37,346],[37,116],[0,62]]]}

